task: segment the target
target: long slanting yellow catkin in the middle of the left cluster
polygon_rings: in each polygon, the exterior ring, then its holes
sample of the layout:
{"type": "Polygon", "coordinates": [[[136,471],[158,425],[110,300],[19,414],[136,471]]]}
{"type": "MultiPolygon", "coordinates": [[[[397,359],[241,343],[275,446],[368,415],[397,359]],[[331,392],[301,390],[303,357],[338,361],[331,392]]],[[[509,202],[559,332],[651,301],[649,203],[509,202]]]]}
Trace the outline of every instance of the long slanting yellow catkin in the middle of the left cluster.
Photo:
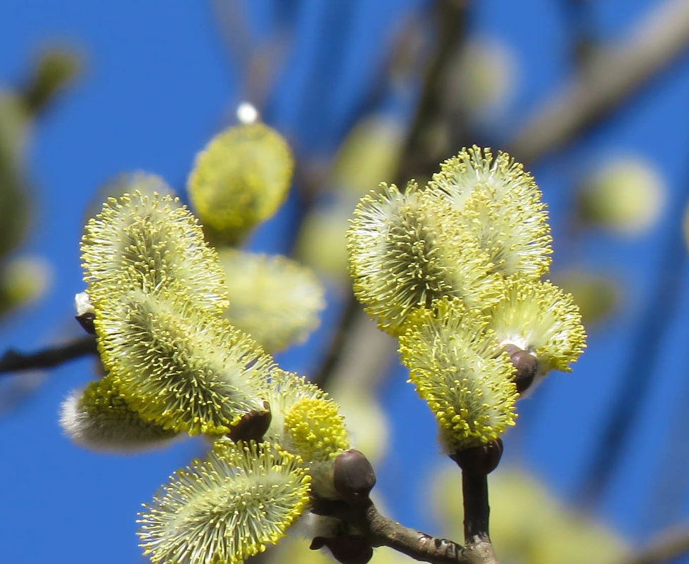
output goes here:
{"type": "Polygon", "coordinates": [[[166,429],[225,433],[260,411],[272,358],[187,296],[132,292],[96,308],[103,364],[132,408],[166,429]]]}

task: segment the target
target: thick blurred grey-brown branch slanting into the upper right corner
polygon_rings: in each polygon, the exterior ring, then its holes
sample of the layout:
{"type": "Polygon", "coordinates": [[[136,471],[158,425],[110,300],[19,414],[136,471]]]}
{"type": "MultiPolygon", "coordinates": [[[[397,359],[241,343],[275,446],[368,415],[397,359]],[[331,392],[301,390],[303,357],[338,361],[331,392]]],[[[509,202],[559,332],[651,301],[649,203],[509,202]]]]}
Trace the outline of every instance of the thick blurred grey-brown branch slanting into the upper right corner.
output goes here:
{"type": "Polygon", "coordinates": [[[689,2],[667,0],[619,46],[600,49],[546,102],[512,141],[510,154],[532,162],[613,111],[689,44],[689,2]]]}

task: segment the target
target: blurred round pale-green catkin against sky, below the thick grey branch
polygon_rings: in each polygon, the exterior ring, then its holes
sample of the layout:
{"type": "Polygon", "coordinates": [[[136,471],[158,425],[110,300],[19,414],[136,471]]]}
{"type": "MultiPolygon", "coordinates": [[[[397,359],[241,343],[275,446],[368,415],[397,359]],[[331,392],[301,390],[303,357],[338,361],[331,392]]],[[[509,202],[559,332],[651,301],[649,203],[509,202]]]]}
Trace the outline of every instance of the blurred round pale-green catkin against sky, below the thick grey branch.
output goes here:
{"type": "Polygon", "coordinates": [[[616,158],[595,170],[579,192],[579,218],[620,235],[650,230],[665,203],[662,178],[650,163],[616,158]]]}

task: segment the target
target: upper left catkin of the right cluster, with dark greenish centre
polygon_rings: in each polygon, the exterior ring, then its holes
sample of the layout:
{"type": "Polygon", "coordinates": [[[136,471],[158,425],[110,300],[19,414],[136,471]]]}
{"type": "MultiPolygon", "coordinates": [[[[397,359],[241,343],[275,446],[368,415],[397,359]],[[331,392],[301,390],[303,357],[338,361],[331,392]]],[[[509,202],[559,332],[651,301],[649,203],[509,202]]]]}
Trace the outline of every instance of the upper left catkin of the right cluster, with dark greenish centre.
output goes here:
{"type": "Polygon", "coordinates": [[[347,234],[354,292],[379,327],[399,335],[407,316],[445,296],[476,307],[500,295],[491,263],[444,198],[381,184],[359,202],[347,234]]]}

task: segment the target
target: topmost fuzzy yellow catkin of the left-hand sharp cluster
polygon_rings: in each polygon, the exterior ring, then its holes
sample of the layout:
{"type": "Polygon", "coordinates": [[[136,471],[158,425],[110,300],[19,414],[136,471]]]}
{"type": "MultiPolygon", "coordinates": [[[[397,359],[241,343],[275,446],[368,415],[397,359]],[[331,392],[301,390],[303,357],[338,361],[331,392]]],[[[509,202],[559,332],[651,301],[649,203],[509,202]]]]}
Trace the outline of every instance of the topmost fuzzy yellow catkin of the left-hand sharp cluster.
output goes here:
{"type": "Polygon", "coordinates": [[[227,308],[225,275],[200,225],[170,196],[140,192],[108,199],[82,238],[84,281],[91,303],[133,290],[187,296],[196,308],[227,308]]]}

